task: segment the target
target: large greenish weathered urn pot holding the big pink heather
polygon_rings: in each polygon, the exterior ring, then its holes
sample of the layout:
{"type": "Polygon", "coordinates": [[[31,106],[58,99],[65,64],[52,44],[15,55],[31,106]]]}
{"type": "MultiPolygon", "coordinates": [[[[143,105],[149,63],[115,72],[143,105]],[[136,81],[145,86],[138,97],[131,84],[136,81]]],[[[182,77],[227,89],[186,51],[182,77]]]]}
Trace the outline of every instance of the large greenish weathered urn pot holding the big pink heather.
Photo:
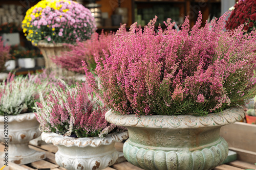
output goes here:
{"type": "Polygon", "coordinates": [[[243,108],[227,109],[208,116],[135,116],[113,111],[105,119],[128,129],[124,157],[144,169],[211,169],[228,155],[220,128],[241,120],[243,108]]]}

